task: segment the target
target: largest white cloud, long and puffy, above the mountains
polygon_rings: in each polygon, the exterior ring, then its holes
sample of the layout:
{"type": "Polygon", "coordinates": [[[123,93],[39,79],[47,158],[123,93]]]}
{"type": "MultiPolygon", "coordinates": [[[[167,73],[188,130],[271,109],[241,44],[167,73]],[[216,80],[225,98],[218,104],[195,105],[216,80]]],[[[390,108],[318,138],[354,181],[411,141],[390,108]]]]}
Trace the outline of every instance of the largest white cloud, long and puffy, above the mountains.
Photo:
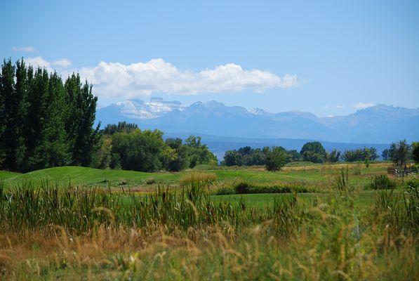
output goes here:
{"type": "Polygon", "coordinates": [[[161,58],[131,65],[101,62],[96,67],[81,68],[80,74],[103,97],[135,98],[151,93],[195,95],[245,90],[261,93],[277,87],[298,86],[297,76],[292,74],[279,77],[262,70],[243,70],[233,63],[199,72],[182,71],[161,58]]]}

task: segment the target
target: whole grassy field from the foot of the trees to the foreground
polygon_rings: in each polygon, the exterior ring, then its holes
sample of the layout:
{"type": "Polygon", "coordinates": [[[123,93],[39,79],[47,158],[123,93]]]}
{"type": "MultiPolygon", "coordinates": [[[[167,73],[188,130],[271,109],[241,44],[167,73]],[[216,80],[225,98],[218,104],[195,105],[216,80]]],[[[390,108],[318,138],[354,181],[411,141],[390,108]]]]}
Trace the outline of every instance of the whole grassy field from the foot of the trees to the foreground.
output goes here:
{"type": "Polygon", "coordinates": [[[388,165],[2,172],[0,279],[418,280],[419,182],[388,165]]]}

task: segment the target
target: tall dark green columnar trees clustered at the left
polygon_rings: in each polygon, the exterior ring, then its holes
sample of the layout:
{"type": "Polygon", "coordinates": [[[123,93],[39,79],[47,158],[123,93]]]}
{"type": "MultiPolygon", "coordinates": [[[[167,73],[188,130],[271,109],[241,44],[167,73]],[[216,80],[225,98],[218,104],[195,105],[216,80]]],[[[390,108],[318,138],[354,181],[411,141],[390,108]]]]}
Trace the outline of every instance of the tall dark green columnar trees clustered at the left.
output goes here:
{"type": "Polygon", "coordinates": [[[0,169],[32,171],[89,166],[100,143],[93,128],[98,98],[79,74],[65,81],[22,60],[4,60],[0,75],[0,169]]]}

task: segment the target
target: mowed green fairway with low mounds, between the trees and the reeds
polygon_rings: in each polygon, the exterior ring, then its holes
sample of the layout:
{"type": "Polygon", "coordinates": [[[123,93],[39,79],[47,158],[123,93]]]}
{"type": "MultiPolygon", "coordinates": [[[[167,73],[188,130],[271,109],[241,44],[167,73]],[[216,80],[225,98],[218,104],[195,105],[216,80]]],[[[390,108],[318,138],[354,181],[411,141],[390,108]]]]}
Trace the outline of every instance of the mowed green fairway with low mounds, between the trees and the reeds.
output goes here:
{"type": "Polygon", "coordinates": [[[187,170],[179,173],[157,172],[144,173],[138,171],[121,171],[110,169],[92,169],[80,166],[64,166],[39,171],[32,171],[27,174],[17,174],[0,171],[0,178],[3,179],[6,188],[32,183],[34,186],[49,181],[59,186],[66,185],[88,185],[88,186],[110,186],[121,185],[135,188],[135,190],[150,190],[157,184],[169,184],[173,187],[179,185],[182,177],[190,173],[211,173],[215,174],[215,185],[229,185],[237,181],[249,183],[285,183],[301,186],[326,187],[330,186],[333,178],[342,169],[348,169],[350,184],[362,187],[368,183],[369,178],[375,174],[386,174],[390,163],[371,164],[366,168],[364,164],[305,164],[300,166],[286,166],[282,171],[269,172],[263,167],[249,168],[219,168],[215,167],[204,170],[187,170]],[[153,179],[152,185],[147,185],[147,180],[153,179]]]}

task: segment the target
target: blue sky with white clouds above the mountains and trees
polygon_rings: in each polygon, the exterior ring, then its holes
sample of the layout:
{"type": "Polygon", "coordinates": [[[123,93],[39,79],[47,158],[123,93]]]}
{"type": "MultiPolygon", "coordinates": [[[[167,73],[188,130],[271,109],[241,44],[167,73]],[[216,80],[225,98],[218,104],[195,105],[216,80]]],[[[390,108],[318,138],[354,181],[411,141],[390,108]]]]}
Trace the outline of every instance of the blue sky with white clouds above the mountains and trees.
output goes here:
{"type": "Polygon", "coordinates": [[[419,1],[2,1],[0,23],[2,57],[79,71],[102,105],[419,107],[419,1]]]}

